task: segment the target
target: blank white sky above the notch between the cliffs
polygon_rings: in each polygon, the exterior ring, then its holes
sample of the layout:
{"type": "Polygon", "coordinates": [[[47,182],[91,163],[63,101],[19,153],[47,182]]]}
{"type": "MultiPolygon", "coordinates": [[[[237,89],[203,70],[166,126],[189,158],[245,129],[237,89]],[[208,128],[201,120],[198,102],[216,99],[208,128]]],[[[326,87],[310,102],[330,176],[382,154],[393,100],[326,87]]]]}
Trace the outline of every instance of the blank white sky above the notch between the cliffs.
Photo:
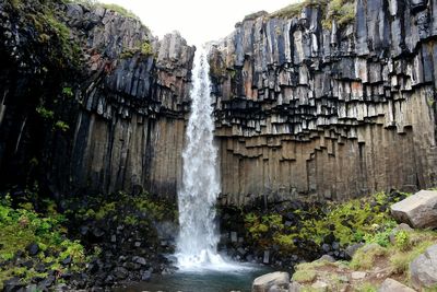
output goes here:
{"type": "Polygon", "coordinates": [[[297,0],[101,0],[131,10],[153,35],[179,31],[190,45],[217,40],[234,30],[245,15],[276,11],[297,0]]]}

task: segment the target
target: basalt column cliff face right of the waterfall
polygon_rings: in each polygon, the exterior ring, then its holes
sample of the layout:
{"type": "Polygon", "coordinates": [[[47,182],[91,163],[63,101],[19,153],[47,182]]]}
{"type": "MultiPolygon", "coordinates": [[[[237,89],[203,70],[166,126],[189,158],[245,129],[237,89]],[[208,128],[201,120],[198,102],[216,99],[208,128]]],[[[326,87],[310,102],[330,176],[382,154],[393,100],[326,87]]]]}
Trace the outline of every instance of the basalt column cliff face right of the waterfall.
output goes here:
{"type": "Polygon", "coordinates": [[[323,10],[246,17],[212,50],[224,203],[436,184],[437,1],[323,10]]]}

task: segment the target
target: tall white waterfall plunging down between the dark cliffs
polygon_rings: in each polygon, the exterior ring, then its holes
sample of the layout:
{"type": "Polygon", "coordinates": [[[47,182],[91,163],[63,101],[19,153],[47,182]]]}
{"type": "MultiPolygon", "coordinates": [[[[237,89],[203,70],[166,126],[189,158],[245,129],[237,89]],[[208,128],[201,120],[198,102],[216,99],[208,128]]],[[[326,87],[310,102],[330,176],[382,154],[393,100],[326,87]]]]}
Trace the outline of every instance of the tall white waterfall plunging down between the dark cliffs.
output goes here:
{"type": "Polygon", "coordinates": [[[206,50],[199,47],[194,56],[191,114],[182,153],[182,188],[178,191],[180,227],[176,257],[181,270],[235,270],[240,266],[224,260],[216,252],[218,234],[214,205],[221,188],[206,55],[206,50]]]}

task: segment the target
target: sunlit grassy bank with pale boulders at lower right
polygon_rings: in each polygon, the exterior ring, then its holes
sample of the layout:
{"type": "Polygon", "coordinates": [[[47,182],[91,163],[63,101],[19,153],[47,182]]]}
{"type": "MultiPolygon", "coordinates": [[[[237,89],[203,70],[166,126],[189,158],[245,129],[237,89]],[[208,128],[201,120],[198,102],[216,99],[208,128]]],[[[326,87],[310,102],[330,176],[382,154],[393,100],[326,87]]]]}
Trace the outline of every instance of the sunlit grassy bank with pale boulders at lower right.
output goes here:
{"type": "Polygon", "coordinates": [[[272,272],[257,278],[252,292],[437,290],[437,191],[422,190],[391,206],[400,223],[380,242],[357,245],[352,260],[324,255],[299,264],[292,278],[272,272]],[[414,226],[412,229],[410,225],[414,226]]]}

